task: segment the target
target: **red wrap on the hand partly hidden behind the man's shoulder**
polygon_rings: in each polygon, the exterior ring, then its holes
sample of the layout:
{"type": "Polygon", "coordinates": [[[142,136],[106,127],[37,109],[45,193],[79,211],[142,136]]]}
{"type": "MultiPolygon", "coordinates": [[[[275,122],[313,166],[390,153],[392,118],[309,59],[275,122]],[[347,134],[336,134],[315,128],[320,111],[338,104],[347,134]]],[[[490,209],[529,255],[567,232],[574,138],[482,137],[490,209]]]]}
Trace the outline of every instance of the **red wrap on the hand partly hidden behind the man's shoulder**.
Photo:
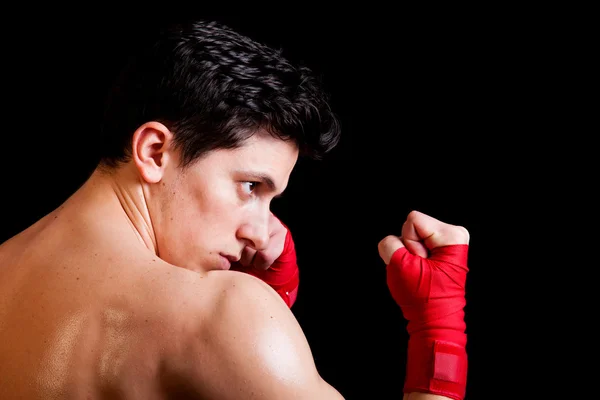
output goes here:
{"type": "Polygon", "coordinates": [[[285,235],[285,243],[281,255],[269,268],[262,271],[253,267],[236,265],[236,267],[232,269],[246,272],[247,274],[261,279],[275,289],[288,307],[291,308],[292,305],[294,305],[298,295],[300,275],[296,261],[296,247],[289,229],[285,235]]]}

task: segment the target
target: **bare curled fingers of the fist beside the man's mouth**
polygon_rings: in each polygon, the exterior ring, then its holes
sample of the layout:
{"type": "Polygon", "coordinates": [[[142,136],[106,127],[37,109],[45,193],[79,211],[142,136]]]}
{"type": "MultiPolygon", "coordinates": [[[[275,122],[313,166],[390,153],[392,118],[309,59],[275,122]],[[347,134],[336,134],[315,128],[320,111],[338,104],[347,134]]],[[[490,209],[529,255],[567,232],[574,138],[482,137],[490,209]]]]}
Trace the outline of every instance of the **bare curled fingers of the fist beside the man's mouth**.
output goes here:
{"type": "Polygon", "coordinates": [[[285,246],[285,237],[288,229],[271,213],[269,217],[269,243],[261,250],[246,246],[242,251],[239,264],[245,268],[254,268],[260,271],[268,269],[279,258],[285,246]]]}

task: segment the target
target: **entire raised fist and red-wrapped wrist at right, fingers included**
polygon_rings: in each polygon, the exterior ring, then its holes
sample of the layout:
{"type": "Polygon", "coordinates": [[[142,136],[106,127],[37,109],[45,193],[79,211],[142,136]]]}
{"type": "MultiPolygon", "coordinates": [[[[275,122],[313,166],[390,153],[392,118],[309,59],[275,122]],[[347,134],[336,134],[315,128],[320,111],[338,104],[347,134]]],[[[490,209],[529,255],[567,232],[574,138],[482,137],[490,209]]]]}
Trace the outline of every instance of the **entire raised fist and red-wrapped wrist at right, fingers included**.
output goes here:
{"type": "Polygon", "coordinates": [[[408,321],[406,393],[465,397],[468,244],[465,228],[417,211],[401,236],[379,242],[388,288],[408,321]]]}

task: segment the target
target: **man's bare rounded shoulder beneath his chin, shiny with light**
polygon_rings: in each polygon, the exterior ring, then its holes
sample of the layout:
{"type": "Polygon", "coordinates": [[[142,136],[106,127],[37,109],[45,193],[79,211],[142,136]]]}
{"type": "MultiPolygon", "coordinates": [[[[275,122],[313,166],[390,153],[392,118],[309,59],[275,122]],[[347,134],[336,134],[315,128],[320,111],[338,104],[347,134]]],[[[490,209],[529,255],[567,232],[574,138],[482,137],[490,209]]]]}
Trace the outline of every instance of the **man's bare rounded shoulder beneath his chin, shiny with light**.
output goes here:
{"type": "Polygon", "coordinates": [[[342,398],[319,375],[300,325],[268,285],[233,271],[198,281],[186,290],[210,289],[181,314],[186,333],[167,362],[167,388],[219,399],[342,398]]]}

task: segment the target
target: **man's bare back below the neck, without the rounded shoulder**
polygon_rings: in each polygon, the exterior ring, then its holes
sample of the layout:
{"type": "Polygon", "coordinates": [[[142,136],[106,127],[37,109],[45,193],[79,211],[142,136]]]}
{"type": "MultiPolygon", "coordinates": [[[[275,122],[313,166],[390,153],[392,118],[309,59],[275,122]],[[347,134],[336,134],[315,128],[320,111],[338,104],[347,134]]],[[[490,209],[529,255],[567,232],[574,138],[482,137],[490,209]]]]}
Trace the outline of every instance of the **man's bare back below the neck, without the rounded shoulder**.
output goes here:
{"type": "Polygon", "coordinates": [[[0,246],[0,398],[168,397],[178,310],[201,319],[217,278],[87,228],[57,211],[0,246]]]}

